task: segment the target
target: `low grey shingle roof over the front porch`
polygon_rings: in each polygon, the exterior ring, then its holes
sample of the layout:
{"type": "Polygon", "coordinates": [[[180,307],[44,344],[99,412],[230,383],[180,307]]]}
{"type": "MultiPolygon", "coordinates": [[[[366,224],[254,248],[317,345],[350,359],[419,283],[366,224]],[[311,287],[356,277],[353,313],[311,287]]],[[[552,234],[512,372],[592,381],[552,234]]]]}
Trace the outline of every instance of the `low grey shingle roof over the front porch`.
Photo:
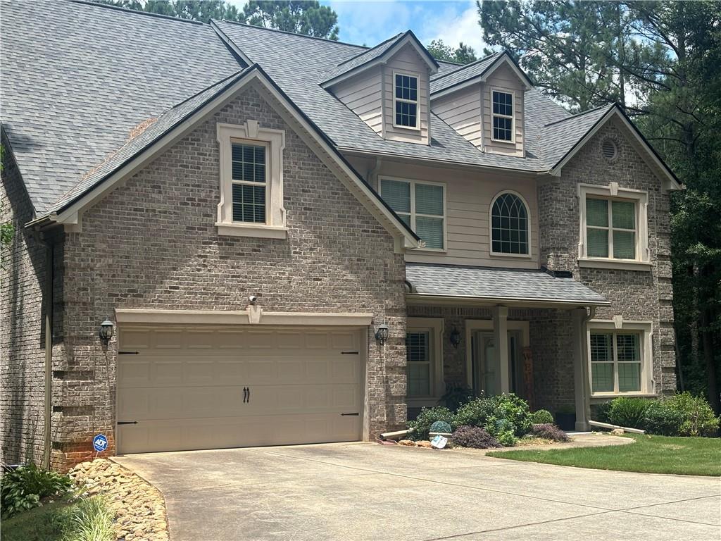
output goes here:
{"type": "Polygon", "coordinates": [[[407,263],[406,280],[420,295],[608,304],[603,295],[583,283],[573,278],[555,278],[544,271],[407,263]]]}

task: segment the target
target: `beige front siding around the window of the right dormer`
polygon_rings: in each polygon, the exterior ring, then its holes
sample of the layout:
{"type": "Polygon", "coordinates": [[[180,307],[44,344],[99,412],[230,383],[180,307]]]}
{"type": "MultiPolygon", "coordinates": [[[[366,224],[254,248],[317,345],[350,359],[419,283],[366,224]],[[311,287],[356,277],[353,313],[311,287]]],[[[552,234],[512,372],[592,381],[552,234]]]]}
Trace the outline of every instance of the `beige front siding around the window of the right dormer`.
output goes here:
{"type": "Polygon", "coordinates": [[[482,87],[483,99],[483,133],[485,135],[485,151],[510,156],[523,156],[523,83],[508,65],[498,67],[482,87]],[[492,141],[492,89],[512,92],[513,108],[516,115],[516,141],[503,143],[492,141]]]}

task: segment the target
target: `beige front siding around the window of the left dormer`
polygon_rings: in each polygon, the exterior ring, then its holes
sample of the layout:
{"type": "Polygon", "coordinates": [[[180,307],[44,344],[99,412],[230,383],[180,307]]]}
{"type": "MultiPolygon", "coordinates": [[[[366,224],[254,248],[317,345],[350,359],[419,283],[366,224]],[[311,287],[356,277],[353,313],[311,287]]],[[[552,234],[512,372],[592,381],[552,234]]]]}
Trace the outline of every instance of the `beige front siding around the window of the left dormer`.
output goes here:
{"type": "Polygon", "coordinates": [[[384,115],[385,138],[391,141],[407,141],[410,143],[429,144],[430,131],[429,117],[429,77],[428,68],[423,58],[410,46],[406,46],[396,53],[384,66],[384,115]],[[393,72],[402,71],[404,74],[418,77],[418,114],[420,116],[420,130],[412,128],[396,128],[393,126],[394,97],[393,72]]]}

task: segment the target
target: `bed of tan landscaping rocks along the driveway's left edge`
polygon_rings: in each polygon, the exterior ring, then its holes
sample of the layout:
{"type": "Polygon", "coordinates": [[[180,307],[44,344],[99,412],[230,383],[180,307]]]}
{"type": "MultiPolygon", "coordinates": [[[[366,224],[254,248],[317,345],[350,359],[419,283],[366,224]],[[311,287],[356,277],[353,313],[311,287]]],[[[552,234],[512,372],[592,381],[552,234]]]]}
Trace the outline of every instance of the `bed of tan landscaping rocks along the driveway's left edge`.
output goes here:
{"type": "Polygon", "coordinates": [[[118,541],[168,541],[162,494],[150,483],[108,459],[81,462],[69,472],[85,493],[105,498],[115,514],[118,541]]]}

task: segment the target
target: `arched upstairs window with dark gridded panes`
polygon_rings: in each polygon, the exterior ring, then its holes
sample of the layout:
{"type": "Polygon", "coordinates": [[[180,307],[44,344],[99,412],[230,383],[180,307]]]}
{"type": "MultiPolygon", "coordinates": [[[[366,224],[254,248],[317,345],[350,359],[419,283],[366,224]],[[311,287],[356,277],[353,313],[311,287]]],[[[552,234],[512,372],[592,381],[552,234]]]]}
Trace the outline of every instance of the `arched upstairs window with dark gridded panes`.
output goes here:
{"type": "Polygon", "coordinates": [[[515,193],[500,193],[493,201],[491,253],[528,255],[528,208],[515,193]]]}

